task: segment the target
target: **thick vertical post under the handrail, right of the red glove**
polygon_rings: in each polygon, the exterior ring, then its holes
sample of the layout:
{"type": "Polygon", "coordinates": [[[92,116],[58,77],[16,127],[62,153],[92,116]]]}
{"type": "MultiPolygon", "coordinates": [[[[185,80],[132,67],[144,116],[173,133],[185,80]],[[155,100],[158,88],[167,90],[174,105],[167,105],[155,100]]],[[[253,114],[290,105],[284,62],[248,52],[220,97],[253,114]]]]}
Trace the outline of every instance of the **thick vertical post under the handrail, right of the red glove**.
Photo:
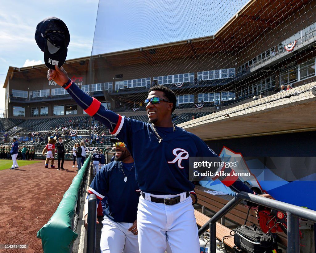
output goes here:
{"type": "Polygon", "coordinates": [[[288,219],[288,253],[300,252],[300,236],[298,217],[290,212],[287,213],[288,219]]]}

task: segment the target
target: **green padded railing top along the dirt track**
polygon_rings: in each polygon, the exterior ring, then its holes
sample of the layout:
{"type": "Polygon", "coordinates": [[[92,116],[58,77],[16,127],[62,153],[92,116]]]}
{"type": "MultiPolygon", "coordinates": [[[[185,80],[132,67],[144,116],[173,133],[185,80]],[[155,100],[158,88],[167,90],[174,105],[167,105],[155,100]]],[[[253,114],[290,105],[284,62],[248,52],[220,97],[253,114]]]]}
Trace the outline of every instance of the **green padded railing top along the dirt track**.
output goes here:
{"type": "Polygon", "coordinates": [[[72,221],[83,177],[89,169],[91,155],[85,160],[78,174],[72,180],[52,218],[38,232],[37,238],[42,239],[44,253],[69,253],[78,234],[72,231],[72,221]]]}

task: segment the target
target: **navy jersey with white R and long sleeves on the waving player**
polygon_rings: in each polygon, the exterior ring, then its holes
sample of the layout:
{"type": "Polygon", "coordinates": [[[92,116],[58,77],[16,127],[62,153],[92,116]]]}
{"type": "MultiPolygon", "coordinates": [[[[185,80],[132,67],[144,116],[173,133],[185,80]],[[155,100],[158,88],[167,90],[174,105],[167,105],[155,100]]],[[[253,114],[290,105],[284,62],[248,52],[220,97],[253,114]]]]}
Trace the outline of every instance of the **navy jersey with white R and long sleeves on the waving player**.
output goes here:
{"type": "MultiPolygon", "coordinates": [[[[157,128],[163,138],[159,144],[158,137],[148,123],[122,117],[101,105],[101,103],[79,89],[69,80],[63,85],[72,98],[84,111],[106,125],[113,135],[127,144],[135,161],[136,181],[143,192],[151,194],[179,194],[194,189],[189,180],[189,157],[219,157],[204,143],[203,140],[186,130],[175,127],[157,128]]],[[[221,168],[219,168],[221,169],[221,168]]],[[[244,183],[236,183],[239,179],[229,168],[232,176],[219,178],[226,186],[239,192],[244,183]]],[[[229,173],[228,173],[229,174],[229,173]]]]}

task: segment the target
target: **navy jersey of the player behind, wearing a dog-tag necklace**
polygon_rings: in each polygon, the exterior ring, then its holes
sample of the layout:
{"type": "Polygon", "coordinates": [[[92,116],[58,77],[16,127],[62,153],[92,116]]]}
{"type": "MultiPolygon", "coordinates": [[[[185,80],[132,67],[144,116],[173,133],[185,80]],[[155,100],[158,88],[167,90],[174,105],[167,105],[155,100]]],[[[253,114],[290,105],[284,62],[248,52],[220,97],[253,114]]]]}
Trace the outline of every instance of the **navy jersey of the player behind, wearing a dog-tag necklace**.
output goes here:
{"type": "Polygon", "coordinates": [[[132,164],[124,166],[124,163],[114,161],[104,165],[91,182],[88,193],[94,193],[99,200],[106,197],[103,214],[109,219],[131,223],[136,220],[140,191],[132,164]]]}

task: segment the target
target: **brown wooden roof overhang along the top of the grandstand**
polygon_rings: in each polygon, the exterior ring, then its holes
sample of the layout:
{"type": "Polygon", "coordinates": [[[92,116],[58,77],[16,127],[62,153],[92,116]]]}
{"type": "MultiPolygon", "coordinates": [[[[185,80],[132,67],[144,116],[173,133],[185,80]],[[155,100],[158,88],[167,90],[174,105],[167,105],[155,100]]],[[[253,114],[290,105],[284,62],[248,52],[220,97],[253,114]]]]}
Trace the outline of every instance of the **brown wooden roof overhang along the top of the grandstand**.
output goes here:
{"type": "MultiPolygon", "coordinates": [[[[70,73],[85,74],[89,68],[94,71],[115,69],[120,66],[149,64],[158,62],[196,58],[203,55],[207,57],[214,52],[233,52],[240,47],[247,47],[260,34],[268,29],[276,28],[295,11],[304,7],[312,0],[250,0],[241,8],[222,28],[214,35],[165,43],[130,50],[94,55],[67,60],[65,69],[70,73]],[[93,59],[89,65],[90,59],[93,59]]],[[[9,67],[3,88],[9,79],[14,77],[31,80],[47,76],[44,64],[30,67],[9,67]]]]}

